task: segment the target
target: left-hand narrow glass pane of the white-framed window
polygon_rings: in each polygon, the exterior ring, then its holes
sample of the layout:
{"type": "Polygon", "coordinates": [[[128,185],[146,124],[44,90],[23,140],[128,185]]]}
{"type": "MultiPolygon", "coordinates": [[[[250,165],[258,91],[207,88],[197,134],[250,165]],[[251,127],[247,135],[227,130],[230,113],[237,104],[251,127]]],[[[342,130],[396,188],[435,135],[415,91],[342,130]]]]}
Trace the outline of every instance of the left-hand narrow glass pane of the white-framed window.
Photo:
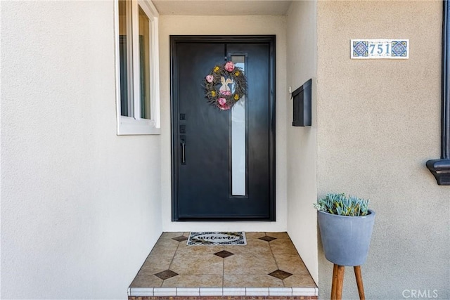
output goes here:
{"type": "Polygon", "coordinates": [[[119,1],[120,115],[133,117],[131,100],[131,1],[119,1]]]}

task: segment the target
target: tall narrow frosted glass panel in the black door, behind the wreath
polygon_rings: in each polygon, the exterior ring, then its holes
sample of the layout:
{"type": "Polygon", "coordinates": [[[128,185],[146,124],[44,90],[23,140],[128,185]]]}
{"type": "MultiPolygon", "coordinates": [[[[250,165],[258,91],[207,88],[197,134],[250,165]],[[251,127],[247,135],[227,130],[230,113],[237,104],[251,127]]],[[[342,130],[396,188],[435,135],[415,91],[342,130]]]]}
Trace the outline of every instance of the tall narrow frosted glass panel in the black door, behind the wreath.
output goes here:
{"type": "MultiPolygon", "coordinates": [[[[231,56],[236,67],[245,71],[245,56],[231,56]]],[[[231,195],[246,193],[245,96],[231,109],[231,195]]]]}

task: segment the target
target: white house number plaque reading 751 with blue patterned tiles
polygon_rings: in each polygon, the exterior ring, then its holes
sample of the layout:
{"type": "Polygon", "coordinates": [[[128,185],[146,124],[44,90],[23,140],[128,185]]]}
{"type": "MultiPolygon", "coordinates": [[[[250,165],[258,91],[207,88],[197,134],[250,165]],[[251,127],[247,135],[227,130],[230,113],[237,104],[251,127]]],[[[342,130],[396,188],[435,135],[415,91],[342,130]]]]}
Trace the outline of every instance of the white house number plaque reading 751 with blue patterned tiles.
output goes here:
{"type": "Polygon", "coordinates": [[[409,39],[352,39],[352,59],[408,59],[409,39]]]}

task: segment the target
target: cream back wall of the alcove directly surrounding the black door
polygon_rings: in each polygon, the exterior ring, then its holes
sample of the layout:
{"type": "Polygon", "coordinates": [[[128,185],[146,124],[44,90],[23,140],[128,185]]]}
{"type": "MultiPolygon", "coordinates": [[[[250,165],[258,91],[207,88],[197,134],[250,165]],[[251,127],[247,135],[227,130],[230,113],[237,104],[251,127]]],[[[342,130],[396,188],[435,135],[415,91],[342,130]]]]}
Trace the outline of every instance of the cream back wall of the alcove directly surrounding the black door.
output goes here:
{"type": "Polygon", "coordinates": [[[164,231],[285,231],[286,213],[286,49],[285,16],[160,16],[162,228],[164,231]],[[224,26],[217,26],[224,24],[224,26]],[[233,24],[233,26],[226,26],[233,24]],[[170,164],[171,34],[276,34],[276,222],[172,222],[170,164]]]}

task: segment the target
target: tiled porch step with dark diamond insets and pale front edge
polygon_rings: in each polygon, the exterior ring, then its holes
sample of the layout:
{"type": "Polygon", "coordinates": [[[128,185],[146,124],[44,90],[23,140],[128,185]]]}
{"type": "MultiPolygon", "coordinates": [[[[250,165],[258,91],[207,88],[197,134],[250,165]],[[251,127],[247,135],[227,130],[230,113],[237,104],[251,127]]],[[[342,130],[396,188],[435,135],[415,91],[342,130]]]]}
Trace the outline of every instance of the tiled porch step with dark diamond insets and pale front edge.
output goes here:
{"type": "Polygon", "coordinates": [[[129,299],[317,299],[316,284],[288,233],[245,235],[245,246],[187,246],[189,233],[162,233],[131,282],[129,299]]]}

